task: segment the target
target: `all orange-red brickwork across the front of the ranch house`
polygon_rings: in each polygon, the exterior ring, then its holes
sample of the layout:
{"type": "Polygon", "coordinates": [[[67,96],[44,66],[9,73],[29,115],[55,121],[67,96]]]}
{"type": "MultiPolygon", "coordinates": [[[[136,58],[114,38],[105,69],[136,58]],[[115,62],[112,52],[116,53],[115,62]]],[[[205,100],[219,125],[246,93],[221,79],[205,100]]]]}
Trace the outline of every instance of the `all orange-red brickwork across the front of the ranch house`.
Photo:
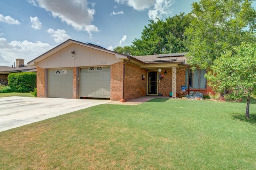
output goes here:
{"type": "MultiPolygon", "coordinates": [[[[119,62],[111,65],[111,84],[110,84],[110,100],[118,101],[122,99],[123,95],[123,64],[119,62]]],[[[78,67],[73,67],[73,99],[79,98],[78,92],[78,67]]],[[[37,96],[46,97],[45,93],[45,71],[46,69],[37,67],[37,96]]],[[[185,85],[186,68],[177,68],[176,72],[176,91],[181,91],[181,86],[185,85]]],[[[164,78],[159,82],[159,93],[163,96],[169,96],[172,91],[172,69],[162,69],[160,74],[164,75],[164,78]],[[166,75],[164,72],[166,71],[166,75]]],[[[130,100],[137,97],[145,96],[147,94],[147,70],[127,63],[125,65],[125,79],[124,79],[124,100],[130,100]],[[145,75],[145,79],[142,80],[142,75],[145,75]]],[[[201,93],[208,93],[212,91],[212,88],[207,85],[207,89],[190,89],[190,91],[199,91],[201,93]]]]}

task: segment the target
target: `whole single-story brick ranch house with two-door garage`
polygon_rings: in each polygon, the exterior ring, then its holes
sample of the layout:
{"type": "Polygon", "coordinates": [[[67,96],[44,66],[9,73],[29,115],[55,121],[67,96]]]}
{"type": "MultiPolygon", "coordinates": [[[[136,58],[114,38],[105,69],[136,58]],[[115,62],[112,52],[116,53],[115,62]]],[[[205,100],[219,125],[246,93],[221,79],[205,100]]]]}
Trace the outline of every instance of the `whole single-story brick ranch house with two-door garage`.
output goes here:
{"type": "Polygon", "coordinates": [[[212,91],[204,70],[188,71],[185,54],[131,57],[69,39],[28,64],[37,67],[38,97],[125,101],[159,93],[169,96],[185,85],[190,91],[212,91]]]}

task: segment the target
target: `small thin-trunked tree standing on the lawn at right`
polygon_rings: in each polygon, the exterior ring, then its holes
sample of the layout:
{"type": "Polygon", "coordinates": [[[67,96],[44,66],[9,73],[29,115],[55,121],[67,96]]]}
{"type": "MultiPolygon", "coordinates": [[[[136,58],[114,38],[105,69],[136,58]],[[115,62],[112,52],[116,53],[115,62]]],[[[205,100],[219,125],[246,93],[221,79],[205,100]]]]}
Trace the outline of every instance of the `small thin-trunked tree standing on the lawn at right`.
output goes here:
{"type": "Polygon", "coordinates": [[[249,119],[250,96],[256,93],[256,43],[241,43],[226,51],[211,65],[207,79],[217,92],[229,93],[225,97],[247,97],[246,118],[249,119]]]}

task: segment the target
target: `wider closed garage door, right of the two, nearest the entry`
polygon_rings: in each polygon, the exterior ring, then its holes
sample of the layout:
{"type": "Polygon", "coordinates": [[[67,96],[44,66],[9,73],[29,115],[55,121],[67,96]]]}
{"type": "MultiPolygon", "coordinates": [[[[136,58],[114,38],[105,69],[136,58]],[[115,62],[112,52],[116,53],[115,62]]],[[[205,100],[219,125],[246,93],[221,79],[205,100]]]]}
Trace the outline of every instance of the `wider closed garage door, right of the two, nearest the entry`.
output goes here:
{"type": "Polygon", "coordinates": [[[80,97],[110,98],[110,67],[81,68],[80,97]]]}

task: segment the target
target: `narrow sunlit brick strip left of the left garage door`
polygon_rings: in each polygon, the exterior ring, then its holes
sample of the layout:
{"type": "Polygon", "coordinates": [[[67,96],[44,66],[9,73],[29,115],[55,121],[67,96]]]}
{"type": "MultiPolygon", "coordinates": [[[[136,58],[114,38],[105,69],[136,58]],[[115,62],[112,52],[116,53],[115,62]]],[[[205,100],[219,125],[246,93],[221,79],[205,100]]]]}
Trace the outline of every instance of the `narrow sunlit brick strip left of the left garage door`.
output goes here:
{"type": "Polygon", "coordinates": [[[36,93],[37,97],[46,97],[45,94],[45,69],[36,67],[36,93]]]}

